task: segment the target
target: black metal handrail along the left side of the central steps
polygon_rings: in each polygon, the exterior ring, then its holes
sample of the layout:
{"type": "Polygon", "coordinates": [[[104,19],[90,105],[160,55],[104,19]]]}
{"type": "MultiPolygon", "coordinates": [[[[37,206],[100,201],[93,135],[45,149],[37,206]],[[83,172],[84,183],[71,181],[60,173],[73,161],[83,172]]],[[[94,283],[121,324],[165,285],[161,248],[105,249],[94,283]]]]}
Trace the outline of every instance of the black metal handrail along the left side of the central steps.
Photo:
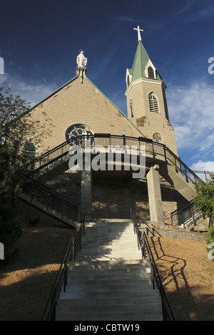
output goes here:
{"type": "Polygon", "coordinates": [[[54,282],[54,286],[51,289],[51,294],[44,309],[44,314],[41,317],[41,321],[55,321],[56,320],[56,302],[60,290],[63,289],[63,292],[66,292],[67,286],[67,277],[68,277],[68,262],[76,262],[78,260],[78,252],[81,251],[81,237],[85,234],[85,227],[88,224],[87,219],[87,210],[85,210],[81,226],[78,230],[78,234],[75,237],[71,236],[70,242],[66,249],[66,253],[63,256],[61,266],[58,269],[58,274],[54,282]]]}

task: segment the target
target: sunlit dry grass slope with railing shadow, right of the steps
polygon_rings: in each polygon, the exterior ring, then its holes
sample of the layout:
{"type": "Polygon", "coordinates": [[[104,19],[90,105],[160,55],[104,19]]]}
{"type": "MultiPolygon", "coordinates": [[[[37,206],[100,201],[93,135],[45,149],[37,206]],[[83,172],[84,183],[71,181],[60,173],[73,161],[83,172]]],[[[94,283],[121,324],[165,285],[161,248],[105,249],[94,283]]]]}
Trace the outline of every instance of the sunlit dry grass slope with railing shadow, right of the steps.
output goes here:
{"type": "Polygon", "coordinates": [[[178,321],[213,321],[214,262],[206,242],[151,237],[165,292],[178,321]]]}

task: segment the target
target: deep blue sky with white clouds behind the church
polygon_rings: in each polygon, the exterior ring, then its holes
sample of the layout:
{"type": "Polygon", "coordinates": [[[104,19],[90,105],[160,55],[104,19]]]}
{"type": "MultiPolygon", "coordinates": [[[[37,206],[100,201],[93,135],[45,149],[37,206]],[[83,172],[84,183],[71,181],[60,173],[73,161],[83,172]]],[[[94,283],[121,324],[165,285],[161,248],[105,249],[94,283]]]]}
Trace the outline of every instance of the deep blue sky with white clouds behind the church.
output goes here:
{"type": "Polygon", "coordinates": [[[0,86],[34,105],[75,76],[83,48],[88,78],[126,115],[141,26],[167,86],[178,154],[193,170],[214,171],[213,0],[12,0],[1,1],[0,18],[0,86]]]}

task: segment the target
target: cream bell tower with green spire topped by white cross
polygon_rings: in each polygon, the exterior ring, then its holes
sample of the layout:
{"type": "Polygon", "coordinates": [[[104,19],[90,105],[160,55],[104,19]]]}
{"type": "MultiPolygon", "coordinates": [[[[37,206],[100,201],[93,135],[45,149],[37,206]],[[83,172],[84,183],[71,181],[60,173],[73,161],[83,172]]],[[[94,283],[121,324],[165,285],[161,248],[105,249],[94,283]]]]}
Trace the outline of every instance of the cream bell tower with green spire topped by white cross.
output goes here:
{"type": "Polygon", "coordinates": [[[140,27],[138,46],[132,68],[126,70],[128,118],[146,138],[165,144],[177,155],[175,132],[170,124],[165,98],[165,83],[158,73],[141,41],[140,27]]]}

